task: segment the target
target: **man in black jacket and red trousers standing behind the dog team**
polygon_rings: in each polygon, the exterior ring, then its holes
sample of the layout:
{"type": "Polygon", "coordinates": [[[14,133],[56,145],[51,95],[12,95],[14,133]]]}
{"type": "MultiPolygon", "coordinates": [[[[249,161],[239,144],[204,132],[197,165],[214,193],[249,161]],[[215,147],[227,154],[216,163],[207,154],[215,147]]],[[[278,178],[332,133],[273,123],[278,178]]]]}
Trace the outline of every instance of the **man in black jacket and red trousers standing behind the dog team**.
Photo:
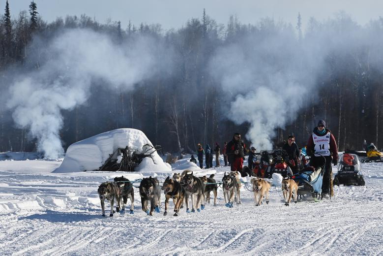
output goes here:
{"type": "Polygon", "coordinates": [[[226,154],[228,155],[231,171],[242,171],[245,149],[246,145],[241,141],[241,135],[235,133],[233,139],[229,141],[226,147],[226,154]]]}

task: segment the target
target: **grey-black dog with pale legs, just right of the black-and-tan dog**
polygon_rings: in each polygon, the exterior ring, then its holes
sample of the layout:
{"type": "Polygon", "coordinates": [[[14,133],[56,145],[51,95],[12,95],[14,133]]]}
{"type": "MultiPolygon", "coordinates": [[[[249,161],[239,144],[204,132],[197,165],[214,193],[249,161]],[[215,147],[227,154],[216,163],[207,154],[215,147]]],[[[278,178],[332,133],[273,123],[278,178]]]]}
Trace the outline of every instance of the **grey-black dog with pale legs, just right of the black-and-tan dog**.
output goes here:
{"type": "Polygon", "coordinates": [[[185,174],[182,178],[182,184],[185,189],[185,204],[186,204],[186,212],[189,212],[189,195],[191,196],[192,201],[192,210],[191,212],[195,212],[195,208],[200,212],[200,205],[202,200],[203,193],[203,185],[200,178],[193,175],[193,172],[190,174],[185,174]]]}

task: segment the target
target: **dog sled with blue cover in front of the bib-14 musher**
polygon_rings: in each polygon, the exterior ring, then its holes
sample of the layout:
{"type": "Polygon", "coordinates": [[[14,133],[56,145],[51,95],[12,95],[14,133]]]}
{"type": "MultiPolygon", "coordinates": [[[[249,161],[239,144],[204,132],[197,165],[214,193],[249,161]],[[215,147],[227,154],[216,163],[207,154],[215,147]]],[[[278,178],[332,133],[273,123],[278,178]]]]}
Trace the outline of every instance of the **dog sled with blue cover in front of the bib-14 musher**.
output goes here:
{"type": "Polygon", "coordinates": [[[291,178],[299,184],[298,195],[311,194],[315,199],[322,199],[323,175],[324,166],[317,167],[316,169],[313,166],[309,166],[302,169],[291,178]]]}

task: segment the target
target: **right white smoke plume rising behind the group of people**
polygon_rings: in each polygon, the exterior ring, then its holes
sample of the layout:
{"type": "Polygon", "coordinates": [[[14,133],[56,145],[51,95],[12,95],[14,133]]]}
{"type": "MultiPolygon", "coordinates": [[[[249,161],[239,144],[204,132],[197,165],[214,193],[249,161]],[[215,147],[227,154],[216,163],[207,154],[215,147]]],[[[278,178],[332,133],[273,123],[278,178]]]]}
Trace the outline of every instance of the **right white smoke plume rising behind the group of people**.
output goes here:
{"type": "MultiPolygon", "coordinates": [[[[276,128],[291,124],[305,107],[303,102],[321,103],[316,95],[321,82],[330,79],[328,67],[337,65],[337,58],[340,64],[355,58],[382,69],[377,57],[356,56],[366,46],[382,51],[377,47],[382,42],[376,33],[378,23],[361,29],[341,12],[324,22],[311,19],[299,40],[293,26],[262,20],[250,35],[238,36],[232,44],[217,49],[210,61],[210,74],[231,102],[226,116],[237,125],[250,124],[246,138],[257,149],[272,149],[276,128]],[[334,53],[336,58],[326,59],[334,53]],[[306,100],[308,93],[310,99],[306,100]]],[[[324,113],[316,114],[324,118],[324,113]]]]}

